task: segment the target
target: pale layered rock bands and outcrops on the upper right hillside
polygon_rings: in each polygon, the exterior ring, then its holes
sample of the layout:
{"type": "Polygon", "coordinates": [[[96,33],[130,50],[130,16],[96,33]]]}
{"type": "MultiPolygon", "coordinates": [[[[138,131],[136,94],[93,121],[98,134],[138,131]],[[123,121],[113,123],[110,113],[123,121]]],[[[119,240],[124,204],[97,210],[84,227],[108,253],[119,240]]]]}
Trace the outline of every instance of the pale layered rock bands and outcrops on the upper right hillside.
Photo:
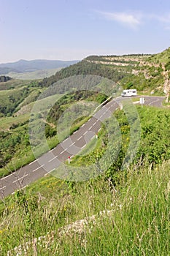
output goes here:
{"type": "MultiPolygon", "coordinates": [[[[158,59],[156,56],[154,58],[151,55],[102,56],[101,58],[98,57],[98,59],[89,59],[87,61],[96,64],[112,65],[118,72],[120,72],[121,70],[121,72],[125,72],[136,76],[143,75],[144,79],[153,80],[152,84],[154,84],[154,79],[155,82],[158,82],[158,80],[160,79],[160,84],[157,83],[155,89],[157,89],[158,91],[163,91],[166,94],[166,102],[170,102],[170,70],[166,70],[167,63],[163,62],[163,56],[158,57],[158,59]]],[[[151,92],[154,93],[154,91],[155,90],[152,90],[151,92]]]]}

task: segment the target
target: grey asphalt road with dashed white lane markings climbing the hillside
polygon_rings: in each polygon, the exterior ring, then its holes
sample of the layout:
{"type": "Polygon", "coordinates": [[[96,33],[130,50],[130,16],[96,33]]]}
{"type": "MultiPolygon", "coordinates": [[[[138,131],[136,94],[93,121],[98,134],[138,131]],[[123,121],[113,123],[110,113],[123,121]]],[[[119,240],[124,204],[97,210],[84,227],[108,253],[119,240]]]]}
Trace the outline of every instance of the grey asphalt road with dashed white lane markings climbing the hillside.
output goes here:
{"type": "MultiPolygon", "coordinates": [[[[87,123],[83,124],[77,132],[69,136],[55,148],[43,154],[42,157],[21,167],[9,176],[0,179],[0,197],[3,199],[18,189],[28,186],[43,176],[55,170],[61,162],[77,154],[93,139],[101,127],[101,122],[109,118],[112,113],[120,107],[120,102],[126,97],[112,99],[100,110],[98,110],[87,123]]],[[[145,97],[144,105],[162,106],[164,97],[145,97]]]]}

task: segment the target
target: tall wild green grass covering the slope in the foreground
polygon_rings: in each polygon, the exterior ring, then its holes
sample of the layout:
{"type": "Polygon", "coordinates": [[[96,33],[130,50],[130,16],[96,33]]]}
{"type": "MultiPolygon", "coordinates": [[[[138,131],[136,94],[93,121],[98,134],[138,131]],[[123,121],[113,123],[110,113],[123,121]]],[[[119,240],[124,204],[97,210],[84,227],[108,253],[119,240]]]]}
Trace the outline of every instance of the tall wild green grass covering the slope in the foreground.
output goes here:
{"type": "Polygon", "coordinates": [[[40,192],[31,185],[4,202],[1,255],[26,242],[26,255],[169,255],[169,170],[119,172],[116,187],[104,176],[69,186],[46,178],[40,192]]]}

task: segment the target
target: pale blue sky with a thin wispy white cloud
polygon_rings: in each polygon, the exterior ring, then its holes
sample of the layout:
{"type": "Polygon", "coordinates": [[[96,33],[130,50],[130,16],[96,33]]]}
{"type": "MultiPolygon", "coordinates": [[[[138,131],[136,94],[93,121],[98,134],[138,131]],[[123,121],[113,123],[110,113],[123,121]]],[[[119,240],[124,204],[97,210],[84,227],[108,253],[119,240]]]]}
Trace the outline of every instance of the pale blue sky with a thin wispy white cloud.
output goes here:
{"type": "Polygon", "coordinates": [[[169,0],[0,0],[0,10],[0,63],[170,46],[169,0]]]}

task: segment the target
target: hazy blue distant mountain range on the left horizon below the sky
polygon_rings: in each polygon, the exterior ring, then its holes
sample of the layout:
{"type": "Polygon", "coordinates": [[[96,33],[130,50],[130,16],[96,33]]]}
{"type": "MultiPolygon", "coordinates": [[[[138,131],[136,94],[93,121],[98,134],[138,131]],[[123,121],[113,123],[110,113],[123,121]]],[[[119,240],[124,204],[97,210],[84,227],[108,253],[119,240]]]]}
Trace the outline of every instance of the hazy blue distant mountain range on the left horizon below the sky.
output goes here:
{"type": "Polygon", "coordinates": [[[36,59],[32,61],[26,61],[21,59],[20,61],[0,64],[0,75],[9,74],[9,72],[23,73],[34,72],[43,69],[57,69],[68,67],[72,64],[76,64],[78,61],[50,61],[45,59],[36,59]]]}

